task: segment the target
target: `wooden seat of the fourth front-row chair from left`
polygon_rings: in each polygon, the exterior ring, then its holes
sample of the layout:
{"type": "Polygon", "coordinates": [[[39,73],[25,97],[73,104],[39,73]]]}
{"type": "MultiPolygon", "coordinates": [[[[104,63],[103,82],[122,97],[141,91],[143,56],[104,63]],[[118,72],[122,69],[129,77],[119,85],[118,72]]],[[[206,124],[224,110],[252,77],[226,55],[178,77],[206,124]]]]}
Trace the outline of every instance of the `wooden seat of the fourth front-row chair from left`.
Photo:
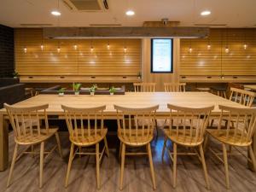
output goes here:
{"type": "MultiPolygon", "coordinates": [[[[203,142],[203,139],[199,140],[196,137],[190,137],[189,129],[185,129],[185,134],[183,134],[183,130],[181,128],[179,129],[178,134],[175,129],[170,131],[169,128],[164,129],[164,132],[166,137],[169,137],[172,142],[183,146],[194,147],[200,145],[203,142]]],[[[195,130],[192,131],[192,135],[195,136],[195,130]]]]}

